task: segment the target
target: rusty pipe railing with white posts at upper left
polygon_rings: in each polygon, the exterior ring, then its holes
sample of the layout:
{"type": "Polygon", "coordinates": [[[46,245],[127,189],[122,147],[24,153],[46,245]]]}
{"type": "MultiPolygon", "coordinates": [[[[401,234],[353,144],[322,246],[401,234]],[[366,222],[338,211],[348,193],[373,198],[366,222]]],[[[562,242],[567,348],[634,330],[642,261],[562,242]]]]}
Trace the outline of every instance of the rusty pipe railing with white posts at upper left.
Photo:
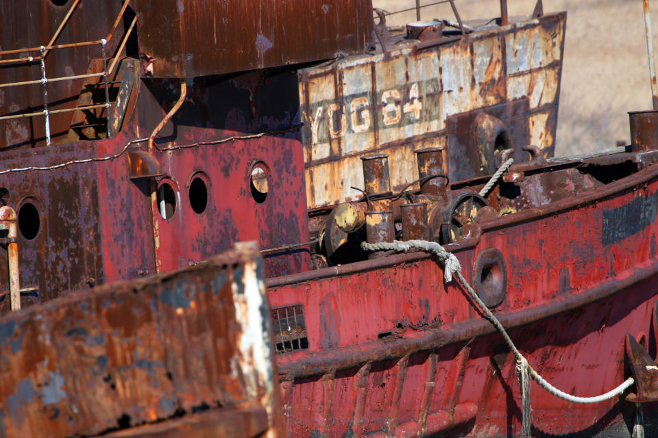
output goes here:
{"type": "Polygon", "coordinates": [[[64,20],[62,20],[62,23],[58,27],[58,29],[55,31],[55,34],[51,38],[50,42],[46,46],[40,46],[40,47],[29,47],[26,49],[12,49],[12,50],[5,50],[5,51],[0,51],[0,55],[12,55],[16,53],[32,53],[32,52],[39,52],[40,54],[36,57],[33,56],[26,56],[26,57],[17,57],[17,58],[12,58],[9,60],[0,60],[0,65],[1,64],[25,64],[25,63],[31,63],[31,62],[40,62],[41,64],[41,79],[34,79],[32,81],[20,81],[20,82],[10,82],[10,83],[0,83],[0,88],[5,88],[5,87],[14,87],[14,86],[26,86],[26,85],[34,85],[34,84],[42,84],[42,92],[43,92],[43,110],[38,111],[38,112],[28,112],[28,113],[21,113],[21,114],[10,114],[8,116],[0,116],[0,120],[8,120],[11,118],[25,118],[25,117],[34,117],[34,116],[45,116],[45,134],[46,134],[46,144],[49,146],[51,144],[51,136],[50,136],[50,115],[51,114],[58,114],[58,113],[64,113],[64,112],[76,112],[76,111],[82,111],[82,110],[93,110],[95,108],[101,108],[105,107],[106,112],[107,112],[107,123],[106,123],[106,131],[107,131],[107,136],[110,136],[110,121],[111,121],[111,105],[110,105],[110,89],[109,89],[109,84],[108,84],[108,79],[110,75],[112,74],[112,71],[114,68],[117,66],[117,62],[119,61],[119,56],[121,55],[121,52],[123,52],[123,49],[125,48],[125,44],[130,37],[130,34],[132,33],[132,29],[135,26],[137,18],[133,18],[132,23],[130,24],[130,27],[127,29],[123,36],[123,40],[121,40],[121,44],[119,44],[119,47],[117,47],[116,55],[114,55],[114,59],[112,60],[112,64],[110,64],[110,68],[108,68],[108,58],[106,56],[106,44],[108,41],[112,39],[112,36],[114,36],[114,31],[117,30],[117,26],[119,25],[121,18],[123,18],[123,15],[125,14],[125,10],[130,3],[130,0],[125,0],[123,2],[123,5],[121,6],[121,10],[119,11],[119,14],[117,15],[117,19],[114,20],[114,24],[112,25],[112,29],[110,29],[110,32],[108,33],[107,38],[102,38],[100,40],[93,40],[93,41],[82,41],[82,42],[72,42],[69,44],[56,44],[53,45],[53,43],[56,41],[58,38],[60,32],[64,28],[64,25],[69,21],[69,18],[73,14],[73,11],[75,10],[77,4],[80,3],[80,0],[75,0],[73,5],[71,5],[71,9],[69,9],[69,12],[64,16],[64,20]],[[93,46],[93,45],[100,45],[101,46],[101,56],[103,58],[103,71],[100,73],[88,73],[86,75],[69,75],[69,76],[61,76],[61,77],[47,77],[46,74],[46,65],[45,65],[45,57],[49,53],[49,51],[54,50],[54,49],[70,49],[74,47],[86,47],[86,46],[93,46]],[[74,108],[64,108],[62,110],[48,110],[48,90],[47,90],[47,84],[49,82],[56,82],[56,81],[73,81],[74,79],[84,79],[88,77],[103,77],[103,86],[105,88],[105,103],[99,103],[96,105],[82,105],[82,106],[76,106],[74,108]]]}

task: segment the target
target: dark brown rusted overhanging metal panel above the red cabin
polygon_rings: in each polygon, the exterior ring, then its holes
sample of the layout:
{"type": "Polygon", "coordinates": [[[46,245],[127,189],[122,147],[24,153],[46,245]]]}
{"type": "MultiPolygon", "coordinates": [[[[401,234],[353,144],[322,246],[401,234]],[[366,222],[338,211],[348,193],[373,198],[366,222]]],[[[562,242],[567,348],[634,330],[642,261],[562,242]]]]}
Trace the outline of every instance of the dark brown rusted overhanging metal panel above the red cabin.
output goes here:
{"type": "Polygon", "coordinates": [[[145,75],[217,75],[361,53],[371,8],[367,0],[137,0],[145,75]]]}

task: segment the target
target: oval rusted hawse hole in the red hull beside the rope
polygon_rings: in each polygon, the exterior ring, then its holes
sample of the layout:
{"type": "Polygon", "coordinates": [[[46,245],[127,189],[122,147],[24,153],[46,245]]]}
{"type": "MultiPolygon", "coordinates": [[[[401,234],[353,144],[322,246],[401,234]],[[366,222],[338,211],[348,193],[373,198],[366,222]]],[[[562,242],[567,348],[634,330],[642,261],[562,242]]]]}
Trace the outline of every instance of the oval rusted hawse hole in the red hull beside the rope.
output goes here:
{"type": "Polygon", "coordinates": [[[496,248],[483,250],[475,261],[475,290],[487,307],[496,307],[505,298],[507,266],[496,248]]]}

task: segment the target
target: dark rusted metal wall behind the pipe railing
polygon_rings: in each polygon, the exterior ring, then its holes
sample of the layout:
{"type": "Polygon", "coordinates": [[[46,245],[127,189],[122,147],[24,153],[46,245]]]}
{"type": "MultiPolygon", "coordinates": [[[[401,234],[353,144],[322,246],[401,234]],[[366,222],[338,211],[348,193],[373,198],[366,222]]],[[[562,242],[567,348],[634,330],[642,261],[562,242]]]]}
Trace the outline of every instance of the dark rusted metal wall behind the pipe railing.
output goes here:
{"type": "MultiPolygon", "coordinates": [[[[112,23],[121,10],[121,0],[81,1],[71,14],[69,21],[55,44],[84,42],[107,38],[112,23]]],[[[41,0],[0,2],[0,51],[25,49],[47,45],[55,34],[73,1],[53,2],[41,0]],[[56,3],[65,3],[57,5],[56,3]]],[[[106,55],[114,55],[123,34],[119,26],[114,38],[106,45],[106,55]]],[[[0,60],[16,57],[37,57],[38,52],[0,55],[0,60]]],[[[90,60],[101,59],[100,45],[57,49],[49,51],[45,58],[46,75],[49,78],[84,75],[90,60]]],[[[94,73],[97,73],[96,70],[94,73]]],[[[0,83],[13,83],[41,79],[38,61],[3,65],[0,68],[0,83]]],[[[49,83],[47,86],[49,110],[75,107],[84,84],[89,79],[73,79],[49,83]]],[[[36,112],[43,109],[43,87],[40,83],[0,88],[0,116],[36,112]]],[[[51,114],[50,129],[53,142],[65,141],[69,133],[73,113],[51,114]]],[[[43,116],[0,120],[0,150],[34,148],[45,144],[45,120],[43,116]]]]}

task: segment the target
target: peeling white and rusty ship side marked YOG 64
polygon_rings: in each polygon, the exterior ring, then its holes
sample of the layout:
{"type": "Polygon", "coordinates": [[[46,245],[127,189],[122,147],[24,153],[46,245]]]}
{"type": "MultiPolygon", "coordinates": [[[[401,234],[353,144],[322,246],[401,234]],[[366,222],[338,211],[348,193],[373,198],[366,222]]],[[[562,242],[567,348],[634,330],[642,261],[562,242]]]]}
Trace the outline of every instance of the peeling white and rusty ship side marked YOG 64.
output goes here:
{"type": "MultiPolygon", "coordinates": [[[[552,155],[565,18],[550,14],[422,50],[403,41],[388,53],[302,70],[309,208],[360,197],[350,188],[363,187],[359,157],[375,151],[389,154],[391,185],[400,190],[418,178],[413,151],[446,146],[448,118],[511,101],[528,101],[515,114],[524,142],[552,155]]],[[[451,158],[458,163],[446,166],[461,166],[463,157],[451,158]]]]}

